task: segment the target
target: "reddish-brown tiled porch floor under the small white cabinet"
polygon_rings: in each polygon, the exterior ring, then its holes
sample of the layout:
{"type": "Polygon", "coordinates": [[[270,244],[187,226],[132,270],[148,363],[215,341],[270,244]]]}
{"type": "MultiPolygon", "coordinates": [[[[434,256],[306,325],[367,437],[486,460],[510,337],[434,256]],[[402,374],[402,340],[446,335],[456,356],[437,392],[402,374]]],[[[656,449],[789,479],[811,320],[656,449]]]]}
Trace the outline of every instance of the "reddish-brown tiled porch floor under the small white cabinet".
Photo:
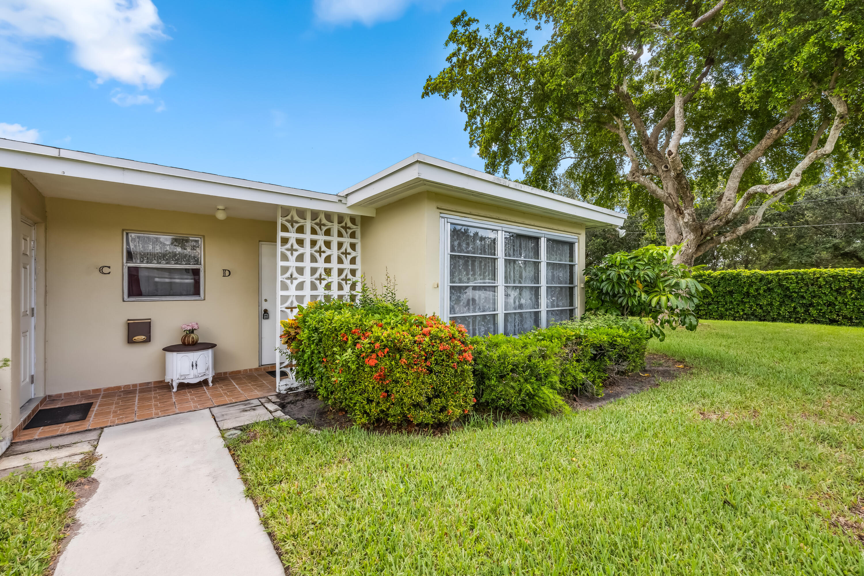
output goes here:
{"type": "Polygon", "coordinates": [[[14,440],[32,440],[89,428],[114,426],[273,394],[276,394],[276,378],[264,372],[249,372],[214,377],[213,386],[207,386],[206,380],[195,384],[182,383],[176,392],[173,392],[168,384],[157,384],[145,388],[48,400],[40,408],[56,408],[84,402],[93,402],[93,406],[86,420],[22,430],[16,434],[14,440]]]}

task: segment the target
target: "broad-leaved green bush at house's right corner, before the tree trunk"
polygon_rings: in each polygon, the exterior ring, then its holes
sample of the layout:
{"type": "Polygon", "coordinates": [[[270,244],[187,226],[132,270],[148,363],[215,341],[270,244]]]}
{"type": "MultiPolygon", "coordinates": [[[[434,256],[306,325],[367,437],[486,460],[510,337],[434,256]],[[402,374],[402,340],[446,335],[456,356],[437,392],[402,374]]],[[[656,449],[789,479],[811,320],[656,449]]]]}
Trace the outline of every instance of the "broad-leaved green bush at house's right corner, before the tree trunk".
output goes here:
{"type": "Polygon", "coordinates": [[[651,244],[603,256],[586,271],[586,307],[599,313],[646,318],[651,335],[661,341],[666,338],[664,327],[696,330],[699,321],[694,308],[706,288],[693,277],[693,271],[701,267],[674,263],[682,246],[651,244]]]}

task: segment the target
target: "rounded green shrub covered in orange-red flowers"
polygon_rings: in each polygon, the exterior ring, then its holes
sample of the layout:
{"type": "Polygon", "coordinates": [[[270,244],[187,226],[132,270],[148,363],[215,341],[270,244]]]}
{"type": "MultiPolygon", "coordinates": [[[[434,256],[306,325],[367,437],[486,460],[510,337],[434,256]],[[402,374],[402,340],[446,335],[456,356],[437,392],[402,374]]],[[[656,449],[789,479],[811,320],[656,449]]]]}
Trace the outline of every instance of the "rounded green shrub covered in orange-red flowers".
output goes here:
{"type": "Polygon", "coordinates": [[[476,402],[463,326],[343,301],[312,302],[296,321],[298,379],[359,424],[454,421],[476,402]]]}

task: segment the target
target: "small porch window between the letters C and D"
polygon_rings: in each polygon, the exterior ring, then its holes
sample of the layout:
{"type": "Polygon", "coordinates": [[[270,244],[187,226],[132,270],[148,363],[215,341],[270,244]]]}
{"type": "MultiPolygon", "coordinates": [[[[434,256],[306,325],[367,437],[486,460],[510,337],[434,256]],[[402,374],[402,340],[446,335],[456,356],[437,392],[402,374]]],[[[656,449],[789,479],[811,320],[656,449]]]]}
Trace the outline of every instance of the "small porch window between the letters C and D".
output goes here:
{"type": "Polygon", "coordinates": [[[124,233],[124,300],[202,300],[204,238],[124,233]]]}

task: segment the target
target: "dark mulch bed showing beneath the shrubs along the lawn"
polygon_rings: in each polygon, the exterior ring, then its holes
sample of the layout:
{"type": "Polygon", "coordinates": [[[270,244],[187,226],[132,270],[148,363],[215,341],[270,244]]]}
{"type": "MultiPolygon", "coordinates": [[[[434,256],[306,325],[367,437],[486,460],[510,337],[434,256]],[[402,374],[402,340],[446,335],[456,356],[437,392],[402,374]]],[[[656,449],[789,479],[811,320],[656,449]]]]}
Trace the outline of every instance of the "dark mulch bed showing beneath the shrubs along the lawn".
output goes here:
{"type": "MultiPolygon", "coordinates": [[[[600,408],[604,404],[637,394],[645,389],[657,388],[663,382],[681,377],[692,370],[690,366],[669,358],[663,354],[648,354],[645,356],[645,370],[633,372],[626,376],[610,378],[603,386],[603,396],[600,398],[588,395],[573,395],[565,397],[564,400],[574,410],[589,410],[600,408]]],[[[323,430],[325,428],[345,429],[354,426],[351,418],[344,411],[336,410],[321,402],[313,389],[299,392],[288,392],[278,395],[276,406],[282,408],[285,415],[294,419],[298,424],[323,430]]],[[[531,420],[529,415],[510,415],[512,421],[531,420]]],[[[459,421],[452,424],[428,426],[408,426],[390,424],[371,427],[370,430],[381,434],[448,434],[461,428],[459,421]]]]}

